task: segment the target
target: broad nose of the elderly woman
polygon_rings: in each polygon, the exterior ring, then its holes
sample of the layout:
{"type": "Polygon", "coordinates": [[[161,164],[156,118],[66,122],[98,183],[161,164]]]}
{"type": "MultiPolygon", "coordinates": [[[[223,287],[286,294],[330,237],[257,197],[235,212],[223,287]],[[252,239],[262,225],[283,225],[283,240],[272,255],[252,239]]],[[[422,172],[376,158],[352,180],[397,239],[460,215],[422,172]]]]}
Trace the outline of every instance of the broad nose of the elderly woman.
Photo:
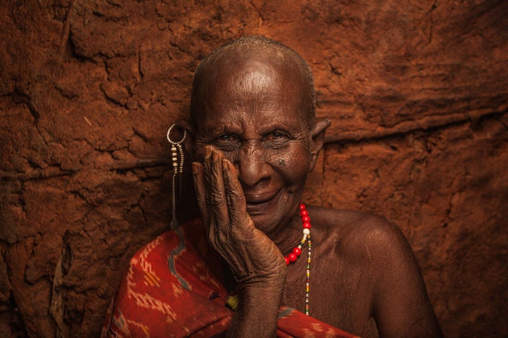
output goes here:
{"type": "Polygon", "coordinates": [[[236,161],[238,180],[248,187],[253,187],[261,180],[270,177],[270,164],[261,149],[248,147],[241,151],[236,161]]]}

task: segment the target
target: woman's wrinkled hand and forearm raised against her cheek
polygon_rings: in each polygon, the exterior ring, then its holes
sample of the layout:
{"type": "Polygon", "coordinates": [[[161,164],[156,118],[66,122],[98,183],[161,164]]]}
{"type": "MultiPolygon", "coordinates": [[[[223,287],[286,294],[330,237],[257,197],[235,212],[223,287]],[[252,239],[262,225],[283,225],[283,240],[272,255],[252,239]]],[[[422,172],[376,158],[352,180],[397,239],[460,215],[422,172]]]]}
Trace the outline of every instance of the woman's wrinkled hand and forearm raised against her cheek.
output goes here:
{"type": "Polygon", "coordinates": [[[193,177],[208,241],[241,286],[227,337],[274,337],[287,272],[282,253],[255,228],[236,168],[221,151],[205,146],[203,163],[193,163],[193,177]]]}

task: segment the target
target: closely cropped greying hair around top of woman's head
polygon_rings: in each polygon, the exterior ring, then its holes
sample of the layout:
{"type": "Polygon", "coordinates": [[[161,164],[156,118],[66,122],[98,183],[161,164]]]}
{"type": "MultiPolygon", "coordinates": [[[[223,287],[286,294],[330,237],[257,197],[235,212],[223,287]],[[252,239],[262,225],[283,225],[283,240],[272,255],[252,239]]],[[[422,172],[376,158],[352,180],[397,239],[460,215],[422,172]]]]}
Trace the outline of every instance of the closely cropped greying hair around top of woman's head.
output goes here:
{"type": "Polygon", "coordinates": [[[303,114],[309,129],[315,124],[315,90],[310,67],[303,58],[288,46],[266,37],[241,37],[208,54],[194,73],[191,92],[191,119],[197,126],[202,111],[202,103],[207,95],[206,88],[216,82],[217,77],[230,71],[231,63],[248,63],[254,58],[269,59],[277,68],[285,68],[298,74],[303,86],[303,114]]]}

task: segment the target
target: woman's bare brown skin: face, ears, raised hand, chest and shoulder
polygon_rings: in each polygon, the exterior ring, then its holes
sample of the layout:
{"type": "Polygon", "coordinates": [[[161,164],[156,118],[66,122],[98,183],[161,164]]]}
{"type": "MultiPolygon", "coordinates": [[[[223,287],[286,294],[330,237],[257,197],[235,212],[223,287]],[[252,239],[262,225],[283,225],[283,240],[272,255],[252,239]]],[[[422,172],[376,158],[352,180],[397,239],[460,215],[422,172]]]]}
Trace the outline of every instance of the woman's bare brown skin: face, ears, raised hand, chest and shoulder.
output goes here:
{"type": "MultiPolygon", "coordinates": [[[[273,58],[229,56],[207,76],[188,148],[208,239],[241,294],[228,335],[273,337],[279,306],[305,307],[305,259],[286,267],[283,255],[301,239],[298,206],[329,122],[308,123],[303,77],[273,58]]],[[[308,210],[310,315],[363,337],[440,337],[397,227],[363,213],[308,210]]]]}

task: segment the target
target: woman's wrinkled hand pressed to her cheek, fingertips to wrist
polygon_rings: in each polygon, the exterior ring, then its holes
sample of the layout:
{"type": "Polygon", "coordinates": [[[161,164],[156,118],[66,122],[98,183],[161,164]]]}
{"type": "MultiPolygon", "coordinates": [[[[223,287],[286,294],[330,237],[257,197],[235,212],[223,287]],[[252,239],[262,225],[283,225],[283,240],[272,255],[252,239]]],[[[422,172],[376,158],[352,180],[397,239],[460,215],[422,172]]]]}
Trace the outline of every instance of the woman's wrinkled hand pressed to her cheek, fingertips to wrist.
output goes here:
{"type": "Polygon", "coordinates": [[[222,151],[205,146],[203,163],[193,163],[198,206],[208,240],[229,264],[238,282],[284,286],[286,263],[277,246],[255,228],[234,165],[222,151]]]}

